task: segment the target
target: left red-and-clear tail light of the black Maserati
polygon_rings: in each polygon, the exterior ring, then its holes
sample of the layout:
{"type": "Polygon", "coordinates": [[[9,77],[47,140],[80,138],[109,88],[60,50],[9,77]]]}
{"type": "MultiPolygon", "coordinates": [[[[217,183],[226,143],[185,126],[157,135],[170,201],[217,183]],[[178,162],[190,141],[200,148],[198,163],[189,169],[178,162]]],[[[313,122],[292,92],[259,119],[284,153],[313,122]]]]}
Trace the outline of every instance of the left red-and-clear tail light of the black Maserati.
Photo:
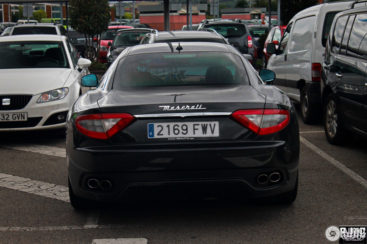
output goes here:
{"type": "Polygon", "coordinates": [[[87,114],[77,116],[76,129],[84,136],[108,139],[124,129],[135,117],[127,113],[87,114]]]}

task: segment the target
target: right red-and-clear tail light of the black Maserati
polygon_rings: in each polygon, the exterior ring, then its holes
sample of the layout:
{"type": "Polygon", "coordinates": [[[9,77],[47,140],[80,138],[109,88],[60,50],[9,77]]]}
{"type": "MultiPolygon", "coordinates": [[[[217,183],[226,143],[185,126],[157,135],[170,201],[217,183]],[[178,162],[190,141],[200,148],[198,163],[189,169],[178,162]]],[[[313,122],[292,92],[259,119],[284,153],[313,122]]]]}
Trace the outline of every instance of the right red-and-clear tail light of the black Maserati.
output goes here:
{"type": "Polygon", "coordinates": [[[259,136],[280,131],[290,119],[289,111],[280,109],[237,110],[231,116],[259,136]]]}

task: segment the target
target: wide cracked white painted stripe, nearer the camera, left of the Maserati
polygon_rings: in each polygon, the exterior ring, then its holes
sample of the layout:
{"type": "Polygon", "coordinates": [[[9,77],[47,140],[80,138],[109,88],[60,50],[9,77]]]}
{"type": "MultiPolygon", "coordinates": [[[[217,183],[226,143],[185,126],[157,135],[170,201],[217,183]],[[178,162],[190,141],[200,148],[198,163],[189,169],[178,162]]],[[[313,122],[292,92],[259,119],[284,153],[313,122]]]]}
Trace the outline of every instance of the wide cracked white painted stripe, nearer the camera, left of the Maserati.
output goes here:
{"type": "Polygon", "coordinates": [[[64,202],[70,202],[69,189],[61,185],[34,181],[28,178],[0,173],[0,186],[44,197],[50,197],[64,202]]]}

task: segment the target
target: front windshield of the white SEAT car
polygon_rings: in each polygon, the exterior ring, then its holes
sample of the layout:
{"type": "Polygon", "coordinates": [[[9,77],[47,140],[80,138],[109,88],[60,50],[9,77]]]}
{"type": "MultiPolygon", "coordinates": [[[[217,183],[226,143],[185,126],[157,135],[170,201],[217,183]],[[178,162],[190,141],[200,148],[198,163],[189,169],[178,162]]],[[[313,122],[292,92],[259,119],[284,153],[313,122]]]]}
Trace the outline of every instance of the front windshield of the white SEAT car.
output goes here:
{"type": "Polygon", "coordinates": [[[67,68],[59,41],[0,42],[0,69],[67,68]]]}

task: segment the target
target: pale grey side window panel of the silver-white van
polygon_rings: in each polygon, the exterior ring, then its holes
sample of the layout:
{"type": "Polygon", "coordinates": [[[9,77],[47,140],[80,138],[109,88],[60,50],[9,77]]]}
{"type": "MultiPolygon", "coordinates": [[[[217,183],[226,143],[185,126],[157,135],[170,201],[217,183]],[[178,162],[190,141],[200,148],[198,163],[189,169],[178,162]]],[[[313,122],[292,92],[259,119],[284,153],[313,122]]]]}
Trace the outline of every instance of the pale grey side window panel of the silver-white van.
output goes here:
{"type": "Polygon", "coordinates": [[[305,51],[311,47],[315,21],[315,16],[309,16],[294,23],[288,52],[305,51]]]}

